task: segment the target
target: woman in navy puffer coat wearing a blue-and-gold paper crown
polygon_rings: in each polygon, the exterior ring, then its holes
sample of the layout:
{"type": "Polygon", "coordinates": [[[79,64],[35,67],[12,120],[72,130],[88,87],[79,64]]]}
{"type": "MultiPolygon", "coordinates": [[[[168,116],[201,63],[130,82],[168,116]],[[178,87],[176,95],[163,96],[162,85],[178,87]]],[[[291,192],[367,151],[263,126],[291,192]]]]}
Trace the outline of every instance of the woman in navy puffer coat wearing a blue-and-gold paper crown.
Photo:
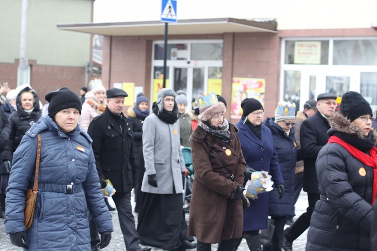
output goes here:
{"type": "Polygon", "coordinates": [[[272,243],[265,246],[265,250],[281,250],[287,216],[295,215],[295,168],[298,155],[293,127],[296,119],[295,110],[295,104],[279,102],[275,110],[275,117],[268,118],[263,122],[272,132],[273,144],[286,191],[283,196],[279,196],[276,188],[269,192],[268,215],[274,220],[275,230],[272,243]]]}

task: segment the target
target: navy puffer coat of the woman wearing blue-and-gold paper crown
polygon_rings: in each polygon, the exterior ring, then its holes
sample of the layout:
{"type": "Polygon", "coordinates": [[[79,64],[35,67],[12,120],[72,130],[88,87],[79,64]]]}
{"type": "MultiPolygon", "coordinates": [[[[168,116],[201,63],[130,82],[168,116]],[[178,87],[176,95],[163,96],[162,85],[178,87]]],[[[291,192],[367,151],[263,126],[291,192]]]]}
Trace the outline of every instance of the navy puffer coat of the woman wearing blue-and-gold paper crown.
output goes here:
{"type": "Polygon", "coordinates": [[[269,192],[268,211],[271,216],[294,216],[295,215],[295,168],[297,160],[297,144],[295,130],[291,129],[290,134],[281,129],[275,123],[274,118],[266,119],[265,124],[272,132],[273,143],[279,160],[280,172],[284,180],[285,194],[279,199],[279,193],[274,188],[269,192]]]}

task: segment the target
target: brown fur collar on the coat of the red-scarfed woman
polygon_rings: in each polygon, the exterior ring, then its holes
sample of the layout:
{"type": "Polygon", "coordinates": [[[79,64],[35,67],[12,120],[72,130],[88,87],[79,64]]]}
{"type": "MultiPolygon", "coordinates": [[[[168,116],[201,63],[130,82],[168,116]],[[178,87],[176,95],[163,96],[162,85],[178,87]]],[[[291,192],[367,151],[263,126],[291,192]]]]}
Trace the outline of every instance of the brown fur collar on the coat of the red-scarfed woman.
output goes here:
{"type": "MultiPolygon", "coordinates": [[[[344,117],[344,115],[340,112],[334,113],[334,115],[329,118],[329,123],[332,127],[330,129],[330,132],[332,130],[335,130],[338,132],[355,135],[359,138],[365,138],[358,127],[352,124],[351,121],[348,118],[344,117]]],[[[371,129],[371,134],[374,140],[374,144],[377,144],[377,128],[371,129]]]]}

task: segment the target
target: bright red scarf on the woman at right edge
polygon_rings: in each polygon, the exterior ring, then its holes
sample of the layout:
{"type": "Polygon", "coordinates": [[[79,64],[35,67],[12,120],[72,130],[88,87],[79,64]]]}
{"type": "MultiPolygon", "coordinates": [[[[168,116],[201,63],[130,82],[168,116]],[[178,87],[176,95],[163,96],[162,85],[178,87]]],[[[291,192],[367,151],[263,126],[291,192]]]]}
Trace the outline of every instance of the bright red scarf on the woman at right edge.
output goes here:
{"type": "Polygon", "coordinates": [[[331,136],[329,138],[328,143],[337,143],[343,146],[352,156],[360,160],[367,166],[371,166],[373,168],[373,193],[372,193],[372,205],[374,204],[375,195],[377,192],[377,148],[373,146],[372,149],[369,150],[369,155],[363,153],[356,147],[344,142],[337,136],[331,136]]]}

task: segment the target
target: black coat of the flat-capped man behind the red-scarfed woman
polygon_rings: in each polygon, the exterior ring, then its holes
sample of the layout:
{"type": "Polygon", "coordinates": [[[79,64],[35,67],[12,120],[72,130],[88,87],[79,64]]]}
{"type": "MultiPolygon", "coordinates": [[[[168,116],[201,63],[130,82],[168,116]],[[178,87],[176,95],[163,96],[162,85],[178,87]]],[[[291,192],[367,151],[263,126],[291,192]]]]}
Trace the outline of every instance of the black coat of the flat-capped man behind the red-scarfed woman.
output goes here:
{"type": "Polygon", "coordinates": [[[304,120],[300,128],[301,154],[304,159],[304,191],[319,194],[316,160],[319,151],[327,144],[329,122],[319,111],[304,120]]]}

